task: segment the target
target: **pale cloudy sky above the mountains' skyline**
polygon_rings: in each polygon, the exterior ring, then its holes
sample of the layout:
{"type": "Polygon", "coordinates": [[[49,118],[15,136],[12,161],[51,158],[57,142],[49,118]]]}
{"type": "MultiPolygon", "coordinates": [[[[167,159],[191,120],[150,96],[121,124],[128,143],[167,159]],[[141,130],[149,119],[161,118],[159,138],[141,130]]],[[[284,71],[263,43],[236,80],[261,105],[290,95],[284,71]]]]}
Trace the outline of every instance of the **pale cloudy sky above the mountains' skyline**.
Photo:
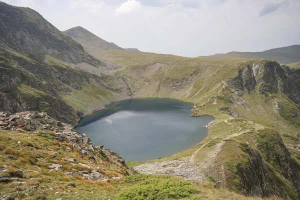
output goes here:
{"type": "Polygon", "coordinates": [[[300,44],[300,0],[3,0],[60,30],[121,47],[194,57],[300,44]]]}

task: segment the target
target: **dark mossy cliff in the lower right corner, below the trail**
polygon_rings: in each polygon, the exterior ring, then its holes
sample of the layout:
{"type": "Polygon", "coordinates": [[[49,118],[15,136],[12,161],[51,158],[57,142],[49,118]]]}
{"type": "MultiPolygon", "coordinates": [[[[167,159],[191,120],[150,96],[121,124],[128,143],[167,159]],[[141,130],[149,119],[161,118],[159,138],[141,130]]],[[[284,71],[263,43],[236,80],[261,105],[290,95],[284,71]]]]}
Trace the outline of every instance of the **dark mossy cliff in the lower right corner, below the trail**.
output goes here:
{"type": "Polygon", "coordinates": [[[247,161],[236,164],[240,187],[247,195],[282,196],[298,199],[300,165],[290,155],[280,135],[261,130],[257,147],[244,143],[247,161]]]}

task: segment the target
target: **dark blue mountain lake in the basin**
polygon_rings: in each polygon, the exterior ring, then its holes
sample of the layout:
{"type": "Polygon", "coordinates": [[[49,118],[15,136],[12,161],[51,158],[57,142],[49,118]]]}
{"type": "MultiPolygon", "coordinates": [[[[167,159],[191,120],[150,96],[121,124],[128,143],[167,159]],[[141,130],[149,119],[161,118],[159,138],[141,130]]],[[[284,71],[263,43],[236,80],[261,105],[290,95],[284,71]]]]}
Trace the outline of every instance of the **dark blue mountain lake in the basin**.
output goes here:
{"type": "Polygon", "coordinates": [[[149,160],[185,150],[207,135],[213,116],[191,117],[192,103],[169,98],[137,98],[106,105],[81,119],[77,131],[126,161],[149,160]]]}

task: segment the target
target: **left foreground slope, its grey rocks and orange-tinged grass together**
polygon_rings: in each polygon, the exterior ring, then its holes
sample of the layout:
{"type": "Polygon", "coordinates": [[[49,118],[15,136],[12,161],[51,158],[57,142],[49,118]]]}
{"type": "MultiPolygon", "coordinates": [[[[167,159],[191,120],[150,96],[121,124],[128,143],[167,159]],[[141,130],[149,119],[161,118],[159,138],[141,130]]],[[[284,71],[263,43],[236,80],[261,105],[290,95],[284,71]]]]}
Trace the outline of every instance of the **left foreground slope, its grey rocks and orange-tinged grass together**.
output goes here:
{"type": "MultiPolygon", "coordinates": [[[[62,176],[68,180],[111,181],[135,173],[118,153],[94,146],[85,134],[44,112],[0,112],[0,138],[4,199],[22,199],[29,194],[36,197],[57,187],[55,180],[44,182],[47,188],[39,185],[42,174],[47,179],[62,176]]],[[[69,181],[70,187],[76,187],[75,183],[69,181]]]]}

